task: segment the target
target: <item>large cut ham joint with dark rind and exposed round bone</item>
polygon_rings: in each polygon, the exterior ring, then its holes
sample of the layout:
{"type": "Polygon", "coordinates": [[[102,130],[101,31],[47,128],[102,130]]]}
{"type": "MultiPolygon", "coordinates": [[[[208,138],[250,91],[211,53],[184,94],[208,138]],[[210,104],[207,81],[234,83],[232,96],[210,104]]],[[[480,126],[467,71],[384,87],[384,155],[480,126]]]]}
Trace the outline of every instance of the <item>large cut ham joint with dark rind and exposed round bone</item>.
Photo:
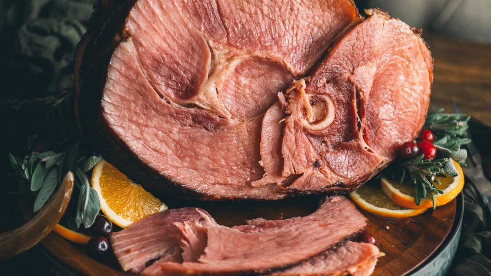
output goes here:
{"type": "Polygon", "coordinates": [[[430,52],[378,10],[360,23],[351,0],[113,5],[81,47],[80,120],[153,193],[346,192],[422,127],[430,52]]]}

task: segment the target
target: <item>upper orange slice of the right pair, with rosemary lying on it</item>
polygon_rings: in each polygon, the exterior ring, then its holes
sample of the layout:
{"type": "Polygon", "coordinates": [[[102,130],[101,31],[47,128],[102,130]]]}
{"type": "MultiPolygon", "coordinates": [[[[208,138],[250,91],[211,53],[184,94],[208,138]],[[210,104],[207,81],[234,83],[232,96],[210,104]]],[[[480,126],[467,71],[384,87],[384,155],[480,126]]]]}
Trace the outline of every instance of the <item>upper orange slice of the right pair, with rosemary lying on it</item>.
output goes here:
{"type": "MultiPolygon", "coordinates": [[[[462,167],[453,160],[459,174],[455,177],[436,177],[441,184],[436,184],[438,189],[442,190],[442,194],[437,194],[436,206],[447,204],[454,199],[464,188],[464,172],[462,167]]],[[[421,205],[416,205],[414,202],[414,186],[408,183],[399,183],[398,181],[382,178],[381,187],[392,202],[398,206],[410,209],[427,209],[433,208],[433,200],[430,195],[421,201],[421,205]]]]}

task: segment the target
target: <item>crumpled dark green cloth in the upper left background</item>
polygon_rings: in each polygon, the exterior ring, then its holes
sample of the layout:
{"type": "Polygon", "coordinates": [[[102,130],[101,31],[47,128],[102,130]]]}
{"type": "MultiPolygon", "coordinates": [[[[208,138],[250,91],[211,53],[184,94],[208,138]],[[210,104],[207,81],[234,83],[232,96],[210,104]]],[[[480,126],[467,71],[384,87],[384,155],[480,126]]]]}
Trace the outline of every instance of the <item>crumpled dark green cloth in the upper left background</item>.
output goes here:
{"type": "Polygon", "coordinates": [[[0,22],[1,98],[56,95],[73,86],[74,50],[94,0],[5,0],[0,22]]]}

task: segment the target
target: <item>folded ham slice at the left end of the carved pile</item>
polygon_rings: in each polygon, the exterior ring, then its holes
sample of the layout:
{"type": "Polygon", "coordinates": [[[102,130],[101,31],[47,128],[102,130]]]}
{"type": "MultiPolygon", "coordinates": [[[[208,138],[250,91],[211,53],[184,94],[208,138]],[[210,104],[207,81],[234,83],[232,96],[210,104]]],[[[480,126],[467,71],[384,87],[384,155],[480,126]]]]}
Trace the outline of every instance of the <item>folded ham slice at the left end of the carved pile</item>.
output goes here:
{"type": "Polygon", "coordinates": [[[110,242],[114,255],[121,268],[131,272],[140,272],[158,259],[182,262],[184,254],[181,257],[182,250],[175,239],[180,234],[180,229],[173,223],[196,221],[200,218],[196,208],[190,207],[150,215],[112,234],[110,242]]]}

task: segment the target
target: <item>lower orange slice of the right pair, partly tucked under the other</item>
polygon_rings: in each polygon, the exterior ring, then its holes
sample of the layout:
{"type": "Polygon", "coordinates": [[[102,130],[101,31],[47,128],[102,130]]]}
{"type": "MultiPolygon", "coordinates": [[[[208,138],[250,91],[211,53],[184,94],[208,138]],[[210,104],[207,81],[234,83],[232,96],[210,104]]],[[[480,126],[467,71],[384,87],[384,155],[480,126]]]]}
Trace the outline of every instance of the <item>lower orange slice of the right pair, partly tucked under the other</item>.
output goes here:
{"type": "Polygon", "coordinates": [[[377,182],[369,182],[350,193],[351,199],[361,209],[382,217],[409,218],[423,213],[424,209],[406,209],[394,204],[377,182]]]}

